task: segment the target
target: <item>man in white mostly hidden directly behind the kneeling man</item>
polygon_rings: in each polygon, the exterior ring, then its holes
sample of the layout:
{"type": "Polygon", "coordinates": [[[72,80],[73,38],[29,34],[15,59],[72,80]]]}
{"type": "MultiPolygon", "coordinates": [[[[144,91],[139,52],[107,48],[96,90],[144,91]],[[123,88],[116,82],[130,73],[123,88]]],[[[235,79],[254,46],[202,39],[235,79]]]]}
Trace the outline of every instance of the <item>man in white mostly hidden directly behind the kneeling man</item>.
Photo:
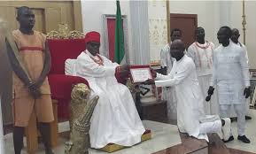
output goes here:
{"type": "MultiPolygon", "coordinates": [[[[178,28],[172,29],[171,31],[171,42],[160,51],[160,60],[161,60],[161,72],[164,75],[167,75],[171,72],[171,69],[174,64],[174,58],[170,54],[170,46],[173,41],[181,39],[182,31],[178,28]]],[[[163,88],[163,99],[167,100],[167,117],[168,119],[177,119],[177,101],[175,97],[175,89],[173,88],[163,88]]]]}

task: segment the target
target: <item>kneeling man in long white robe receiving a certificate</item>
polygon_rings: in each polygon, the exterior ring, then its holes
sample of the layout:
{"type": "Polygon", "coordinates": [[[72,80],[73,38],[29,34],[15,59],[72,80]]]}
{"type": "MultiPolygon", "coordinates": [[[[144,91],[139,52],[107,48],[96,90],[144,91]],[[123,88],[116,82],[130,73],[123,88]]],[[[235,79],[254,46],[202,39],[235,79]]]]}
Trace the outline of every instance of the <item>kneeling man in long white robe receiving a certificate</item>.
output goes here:
{"type": "Polygon", "coordinates": [[[188,133],[198,139],[206,139],[207,133],[218,133],[226,139],[229,135],[230,119],[220,119],[218,115],[206,116],[204,112],[204,96],[198,83],[196,66],[191,58],[184,55],[184,43],[175,40],[170,48],[171,56],[175,58],[173,68],[167,75],[157,73],[157,87],[175,87],[177,98],[177,125],[182,133],[188,133]]]}

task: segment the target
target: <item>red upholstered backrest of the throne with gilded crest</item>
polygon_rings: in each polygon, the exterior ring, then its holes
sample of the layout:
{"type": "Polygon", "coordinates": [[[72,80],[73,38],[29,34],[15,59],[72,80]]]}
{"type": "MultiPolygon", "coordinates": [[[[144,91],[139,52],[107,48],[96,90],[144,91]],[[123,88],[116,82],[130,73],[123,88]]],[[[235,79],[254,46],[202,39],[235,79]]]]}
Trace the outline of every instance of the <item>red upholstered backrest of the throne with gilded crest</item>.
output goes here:
{"type": "Polygon", "coordinates": [[[67,58],[77,58],[86,49],[84,39],[48,39],[51,69],[50,74],[65,74],[67,58]]]}

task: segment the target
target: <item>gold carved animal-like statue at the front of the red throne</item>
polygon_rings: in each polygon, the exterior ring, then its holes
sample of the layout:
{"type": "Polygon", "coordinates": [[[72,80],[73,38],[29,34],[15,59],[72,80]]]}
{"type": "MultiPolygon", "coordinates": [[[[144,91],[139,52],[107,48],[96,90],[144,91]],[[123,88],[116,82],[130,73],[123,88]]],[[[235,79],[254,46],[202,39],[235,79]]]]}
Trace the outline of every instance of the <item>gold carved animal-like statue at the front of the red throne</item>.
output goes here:
{"type": "Polygon", "coordinates": [[[66,154],[88,154],[90,118],[98,96],[89,99],[90,90],[79,83],[71,92],[70,141],[66,142],[66,154]]]}

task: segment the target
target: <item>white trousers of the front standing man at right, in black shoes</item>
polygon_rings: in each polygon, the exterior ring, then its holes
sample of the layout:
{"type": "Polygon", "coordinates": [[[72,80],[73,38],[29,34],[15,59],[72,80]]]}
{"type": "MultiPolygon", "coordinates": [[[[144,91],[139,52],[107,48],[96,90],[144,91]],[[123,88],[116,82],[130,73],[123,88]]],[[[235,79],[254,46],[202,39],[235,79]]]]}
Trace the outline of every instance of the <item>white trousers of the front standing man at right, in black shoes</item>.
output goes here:
{"type": "MultiPolygon", "coordinates": [[[[245,104],[233,104],[235,112],[237,113],[237,133],[238,135],[245,134],[245,104]]],[[[220,104],[221,118],[229,118],[232,104],[220,104]]],[[[232,133],[230,131],[230,133],[232,133]]]]}

